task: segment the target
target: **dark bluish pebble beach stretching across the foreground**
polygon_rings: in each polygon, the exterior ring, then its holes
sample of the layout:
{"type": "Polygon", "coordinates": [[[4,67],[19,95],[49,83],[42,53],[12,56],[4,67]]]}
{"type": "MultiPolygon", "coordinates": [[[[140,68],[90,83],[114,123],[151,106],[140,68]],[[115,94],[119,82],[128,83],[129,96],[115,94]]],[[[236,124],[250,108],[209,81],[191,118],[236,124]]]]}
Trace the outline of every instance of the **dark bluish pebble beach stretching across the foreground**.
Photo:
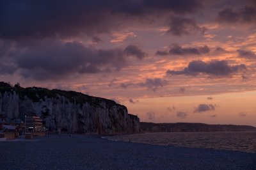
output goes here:
{"type": "Polygon", "coordinates": [[[49,135],[0,142],[0,169],[256,169],[256,154],[49,135]]]}

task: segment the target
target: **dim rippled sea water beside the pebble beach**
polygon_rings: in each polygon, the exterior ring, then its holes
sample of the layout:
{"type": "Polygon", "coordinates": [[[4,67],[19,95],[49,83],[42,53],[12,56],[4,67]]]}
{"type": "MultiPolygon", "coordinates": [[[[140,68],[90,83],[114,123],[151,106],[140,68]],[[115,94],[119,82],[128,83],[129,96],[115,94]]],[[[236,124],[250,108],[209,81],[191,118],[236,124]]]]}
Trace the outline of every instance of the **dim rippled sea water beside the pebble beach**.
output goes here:
{"type": "Polygon", "coordinates": [[[256,153],[256,132],[161,132],[113,135],[107,139],[256,153]]]}

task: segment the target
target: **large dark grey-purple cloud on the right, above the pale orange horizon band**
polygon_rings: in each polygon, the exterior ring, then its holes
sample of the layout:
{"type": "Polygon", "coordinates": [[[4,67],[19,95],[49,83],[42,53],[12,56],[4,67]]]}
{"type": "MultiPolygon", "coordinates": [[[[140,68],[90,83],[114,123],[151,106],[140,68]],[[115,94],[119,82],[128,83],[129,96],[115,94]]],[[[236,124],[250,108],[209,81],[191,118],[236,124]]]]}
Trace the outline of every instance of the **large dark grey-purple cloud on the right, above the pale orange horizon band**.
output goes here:
{"type": "Polygon", "coordinates": [[[175,71],[168,70],[166,71],[166,75],[200,75],[202,73],[214,75],[216,77],[230,76],[237,72],[246,71],[246,65],[228,65],[227,61],[209,61],[205,63],[204,61],[191,61],[188,67],[184,68],[184,70],[175,71]]]}

